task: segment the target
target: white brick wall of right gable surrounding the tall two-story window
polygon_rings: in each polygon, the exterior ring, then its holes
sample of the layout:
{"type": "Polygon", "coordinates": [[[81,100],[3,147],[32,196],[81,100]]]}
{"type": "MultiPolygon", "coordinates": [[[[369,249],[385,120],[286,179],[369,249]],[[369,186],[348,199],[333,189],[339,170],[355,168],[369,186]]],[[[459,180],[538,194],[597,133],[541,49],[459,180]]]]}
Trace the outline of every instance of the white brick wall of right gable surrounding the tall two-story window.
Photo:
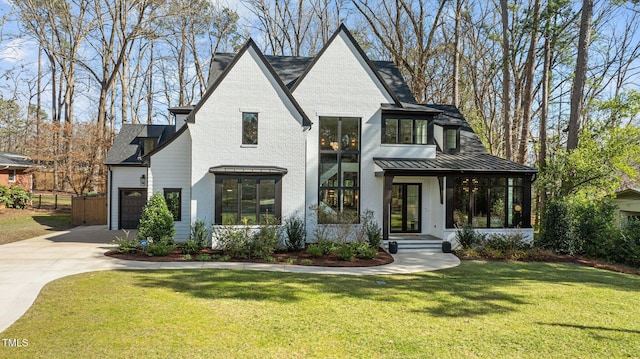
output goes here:
{"type": "MultiPolygon", "coordinates": [[[[435,146],[381,144],[380,105],[393,103],[393,99],[344,32],[325,49],[293,95],[315,123],[307,139],[307,209],[318,204],[319,117],[359,117],[360,212],[373,210],[382,224],[383,178],[374,176],[373,157],[435,157],[435,146]]],[[[309,234],[313,226],[308,223],[309,234]]]]}

